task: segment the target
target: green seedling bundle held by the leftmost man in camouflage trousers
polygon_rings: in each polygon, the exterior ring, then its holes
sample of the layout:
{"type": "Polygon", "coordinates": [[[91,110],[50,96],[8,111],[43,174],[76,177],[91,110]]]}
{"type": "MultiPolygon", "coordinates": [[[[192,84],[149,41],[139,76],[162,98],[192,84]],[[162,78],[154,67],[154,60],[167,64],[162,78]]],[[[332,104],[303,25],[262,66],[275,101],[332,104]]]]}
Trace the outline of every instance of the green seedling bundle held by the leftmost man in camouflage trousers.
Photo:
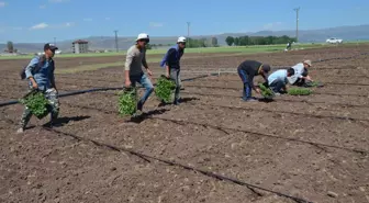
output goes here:
{"type": "Polygon", "coordinates": [[[24,104],[38,120],[45,117],[51,109],[49,102],[46,100],[44,93],[40,90],[32,90],[21,98],[20,102],[24,104]]]}

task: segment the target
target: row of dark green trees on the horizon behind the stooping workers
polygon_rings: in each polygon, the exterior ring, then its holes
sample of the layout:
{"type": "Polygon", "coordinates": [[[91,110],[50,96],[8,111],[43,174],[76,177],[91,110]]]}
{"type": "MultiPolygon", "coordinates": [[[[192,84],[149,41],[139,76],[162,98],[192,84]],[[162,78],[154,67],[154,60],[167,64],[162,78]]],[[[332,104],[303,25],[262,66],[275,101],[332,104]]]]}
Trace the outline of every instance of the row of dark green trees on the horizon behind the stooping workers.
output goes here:
{"type": "Polygon", "coordinates": [[[228,46],[247,46],[247,45],[270,45],[270,44],[287,44],[295,42],[294,37],[283,36],[227,36],[225,43],[228,46]]]}

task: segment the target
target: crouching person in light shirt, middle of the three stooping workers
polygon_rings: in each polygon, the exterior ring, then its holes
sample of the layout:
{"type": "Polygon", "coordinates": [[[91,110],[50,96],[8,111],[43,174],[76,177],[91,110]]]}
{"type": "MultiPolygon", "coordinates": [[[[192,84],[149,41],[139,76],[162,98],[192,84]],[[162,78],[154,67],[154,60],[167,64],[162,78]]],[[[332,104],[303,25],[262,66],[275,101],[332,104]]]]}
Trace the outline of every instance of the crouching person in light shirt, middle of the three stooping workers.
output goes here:
{"type": "Polygon", "coordinates": [[[282,92],[284,93],[287,92],[286,84],[288,83],[288,77],[293,75],[293,68],[289,68],[288,70],[277,70],[268,77],[268,84],[277,95],[282,92]]]}

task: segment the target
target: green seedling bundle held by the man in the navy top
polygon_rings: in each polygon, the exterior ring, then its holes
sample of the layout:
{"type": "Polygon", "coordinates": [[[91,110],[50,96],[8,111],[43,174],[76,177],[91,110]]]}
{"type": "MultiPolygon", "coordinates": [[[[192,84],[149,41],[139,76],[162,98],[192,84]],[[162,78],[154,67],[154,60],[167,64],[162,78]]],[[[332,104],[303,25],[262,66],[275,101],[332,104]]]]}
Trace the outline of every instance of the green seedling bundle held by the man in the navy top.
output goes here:
{"type": "Polygon", "coordinates": [[[176,82],[172,79],[169,79],[165,76],[160,76],[160,78],[156,82],[155,94],[159,100],[168,103],[172,100],[172,93],[176,89],[176,82]]]}

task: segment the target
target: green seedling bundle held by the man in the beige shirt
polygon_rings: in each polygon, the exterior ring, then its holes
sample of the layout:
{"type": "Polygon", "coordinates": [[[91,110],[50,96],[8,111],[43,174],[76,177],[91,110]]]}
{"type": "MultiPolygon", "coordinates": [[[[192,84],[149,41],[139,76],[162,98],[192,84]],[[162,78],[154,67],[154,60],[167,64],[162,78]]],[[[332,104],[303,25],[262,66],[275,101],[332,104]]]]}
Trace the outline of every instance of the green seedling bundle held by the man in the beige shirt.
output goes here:
{"type": "Polygon", "coordinates": [[[121,116],[135,114],[137,111],[137,89],[135,87],[123,88],[119,92],[118,103],[121,116]]]}

